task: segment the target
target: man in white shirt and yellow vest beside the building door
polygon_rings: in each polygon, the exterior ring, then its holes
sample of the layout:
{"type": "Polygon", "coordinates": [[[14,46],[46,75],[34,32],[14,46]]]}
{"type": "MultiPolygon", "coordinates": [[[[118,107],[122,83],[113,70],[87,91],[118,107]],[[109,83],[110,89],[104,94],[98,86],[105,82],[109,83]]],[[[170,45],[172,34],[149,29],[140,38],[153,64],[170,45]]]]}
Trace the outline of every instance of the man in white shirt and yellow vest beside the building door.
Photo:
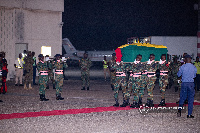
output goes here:
{"type": "Polygon", "coordinates": [[[23,58],[22,58],[22,54],[19,54],[19,58],[17,58],[17,60],[15,60],[15,64],[14,67],[16,68],[16,76],[15,76],[15,86],[18,86],[18,79],[20,80],[20,85],[19,86],[23,86],[22,85],[22,77],[23,77],[23,58]]]}

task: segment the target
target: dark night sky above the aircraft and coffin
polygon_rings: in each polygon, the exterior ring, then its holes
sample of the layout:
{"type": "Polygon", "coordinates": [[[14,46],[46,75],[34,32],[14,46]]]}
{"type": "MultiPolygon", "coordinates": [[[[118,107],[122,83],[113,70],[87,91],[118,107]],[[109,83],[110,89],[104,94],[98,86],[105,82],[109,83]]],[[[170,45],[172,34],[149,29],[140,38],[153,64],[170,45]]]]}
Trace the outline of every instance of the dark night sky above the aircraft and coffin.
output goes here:
{"type": "Polygon", "coordinates": [[[64,0],[63,38],[78,50],[113,50],[130,37],[196,36],[198,0],[64,0]]]}

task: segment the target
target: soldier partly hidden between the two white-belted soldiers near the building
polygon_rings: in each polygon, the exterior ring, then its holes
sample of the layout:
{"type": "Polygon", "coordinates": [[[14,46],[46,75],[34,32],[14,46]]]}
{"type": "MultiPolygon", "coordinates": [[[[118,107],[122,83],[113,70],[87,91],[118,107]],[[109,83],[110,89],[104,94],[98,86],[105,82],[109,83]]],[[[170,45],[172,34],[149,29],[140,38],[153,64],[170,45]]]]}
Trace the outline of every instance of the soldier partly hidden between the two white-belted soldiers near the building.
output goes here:
{"type": "Polygon", "coordinates": [[[46,61],[47,61],[48,68],[49,68],[49,71],[48,71],[48,81],[47,81],[47,87],[46,87],[46,89],[49,89],[49,82],[50,81],[53,84],[53,89],[56,89],[56,87],[55,87],[55,80],[54,80],[54,73],[53,73],[53,61],[49,60],[49,55],[46,55],[45,57],[46,57],[46,61]]]}

